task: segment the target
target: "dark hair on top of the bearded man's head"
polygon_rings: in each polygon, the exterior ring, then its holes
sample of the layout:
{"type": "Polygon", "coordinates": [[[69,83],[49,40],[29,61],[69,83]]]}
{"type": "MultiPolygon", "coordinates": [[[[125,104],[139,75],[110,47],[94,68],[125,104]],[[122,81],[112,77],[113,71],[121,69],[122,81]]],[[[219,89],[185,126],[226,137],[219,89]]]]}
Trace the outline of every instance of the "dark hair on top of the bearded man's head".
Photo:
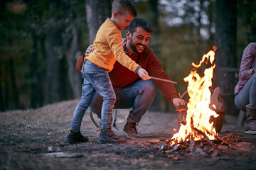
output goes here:
{"type": "Polygon", "coordinates": [[[153,28],[151,28],[150,24],[149,24],[148,22],[146,22],[146,21],[145,21],[144,19],[142,19],[142,18],[134,18],[134,19],[130,22],[130,24],[129,24],[127,30],[129,30],[129,32],[133,35],[134,30],[135,30],[137,27],[142,27],[144,30],[146,30],[146,31],[149,32],[149,33],[153,33],[153,32],[154,32],[154,30],[153,30],[153,28]]]}

